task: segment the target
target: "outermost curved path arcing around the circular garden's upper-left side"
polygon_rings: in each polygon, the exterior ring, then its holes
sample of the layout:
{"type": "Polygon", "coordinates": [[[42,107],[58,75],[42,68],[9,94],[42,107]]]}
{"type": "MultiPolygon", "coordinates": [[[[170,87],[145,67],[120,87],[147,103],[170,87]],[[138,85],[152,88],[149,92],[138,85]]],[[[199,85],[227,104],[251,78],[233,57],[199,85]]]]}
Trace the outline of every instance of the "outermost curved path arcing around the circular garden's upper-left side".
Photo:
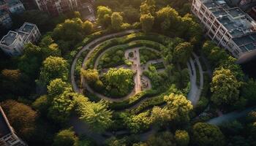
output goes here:
{"type": "MultiPolygon", "coordinates": [[[[122,31],[122,32],[118,32],[118,33],[115,33],[115,34],[108,34],[108,35],[105,35],[104,37],[99,37],[98,39],[94,39],[92,42],[90,42],[89,44],[85,45],[77,55],[75,55],[75,58],[72,62],[72,66],[71,66],[71,72],[70,72],[70,78],[71,78],[71,83],[72,83],[72,88],[75,92],[78,92],[80,93],[80,88],[78,88],[78,85],[76,84],[75,82],[75,64],[77,63],[78,61],[78,58],[80,57],[81,53],[83,53],[85,50],[90,50],[90,47],[91,46],[94,46],[96,45],[95,47],[98,47],[99,45],[102,45],[102,43],[107,40],[107,39],[110,39],[110,38],[113,38],[113,37],[121,37],[121,36],[124,36],[124,35],[127,35],[127,34],[132,34],[132,33],[135,33],[135,32],[138,32],[139,30],[137,29],[132,29],[132,30],[127,30],[127,31],[122,31]]],[[[91,52],[91,51],[90,51],[91,52]]],[[[84,62],[83,62],[84,64],[84,62]]]]}

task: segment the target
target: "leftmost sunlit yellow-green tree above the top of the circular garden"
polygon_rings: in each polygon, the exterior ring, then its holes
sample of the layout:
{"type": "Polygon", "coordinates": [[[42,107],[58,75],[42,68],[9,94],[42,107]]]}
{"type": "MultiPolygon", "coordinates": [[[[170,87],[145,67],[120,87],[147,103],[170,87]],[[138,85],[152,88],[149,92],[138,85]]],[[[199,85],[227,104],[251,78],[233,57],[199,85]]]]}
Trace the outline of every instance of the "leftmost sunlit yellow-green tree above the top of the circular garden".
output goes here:
{"type": "Polygon", "coordinates": [[[97,22],[102,26],[109,26],[111,23],[112,10],[108,7],[97,7],[97,22]]]}

